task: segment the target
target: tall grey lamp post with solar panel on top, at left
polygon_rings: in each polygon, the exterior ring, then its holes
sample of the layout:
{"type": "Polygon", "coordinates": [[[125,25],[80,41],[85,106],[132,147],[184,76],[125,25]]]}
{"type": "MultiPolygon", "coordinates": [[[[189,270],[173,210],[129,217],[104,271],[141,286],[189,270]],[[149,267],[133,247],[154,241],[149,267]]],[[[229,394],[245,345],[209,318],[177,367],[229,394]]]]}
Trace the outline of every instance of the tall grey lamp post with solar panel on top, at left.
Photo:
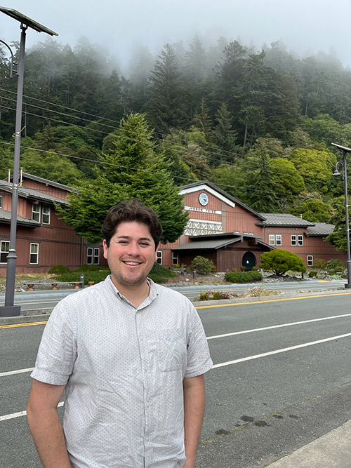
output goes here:
{"type": "MultiPolygon", "coordinates": [[[[13,182],[12,182],[12,204],[11,204],[11,228],[10,228],[10,249],[7,256],[6,267],[6,293],[5,305],[0,307],[0,316],[18,316],[20,315],[20,306],[13,305],[15,299],[15,276],[16,276],[16,229],[17,229],[17,204],[18,204],[18,178],[20,173],[20,140],[22,128],[22,97],[23,97],[23,77],[25,72],[25,35],[27,28],[30,27],[37,32],[46,32],[51,36],[58,34],[47,27],[40,25],[39,22],[28,18],[19,11],[12,10],[0,6],[0,11],[11,18],[20,22],[20,53],[17,64],[16,74],[18,75],[17,82],[17,100],[16,100],[16,118],[15,118],[15,154],[13,158],[13,182]]],[[[5,44],[7,48],[9,46],[5,44]]],[[[11,49],[10,49],[11,50],[11,49]]],[[[13,54],[11,53],[11,72],[13,64],[13,54]]]]}

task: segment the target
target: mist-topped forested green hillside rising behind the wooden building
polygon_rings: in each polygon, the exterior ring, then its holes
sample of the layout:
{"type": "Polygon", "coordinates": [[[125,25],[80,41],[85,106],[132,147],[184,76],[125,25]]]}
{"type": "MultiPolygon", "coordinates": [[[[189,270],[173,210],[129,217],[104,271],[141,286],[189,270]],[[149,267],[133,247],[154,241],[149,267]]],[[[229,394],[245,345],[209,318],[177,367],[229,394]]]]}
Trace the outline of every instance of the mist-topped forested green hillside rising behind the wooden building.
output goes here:
{"type": "MultiPolygon", "coordinates": [[[[12,170],[16,88],[0,45],[1,178],[12,170]]],[[[27,51],[24,94],[20,165],[27,172],[82,194],[100,187],[105,205],[111,184],[114,196],[137,195],[143,180],[176,193],[206,178],[259,212],[333,222],[340,235],[331,241],[345,248],[331,142],[351,145],[351,70],[330,54],[300,59],[279,41],[257,51],[223,37],[205,46],[194,36],[165,44],[156,57],[138,44],[122,71],[86,38],[74,48],[47,39],[27,51]],[[131,157],[140,128],[149,142],[131,157]]]]}

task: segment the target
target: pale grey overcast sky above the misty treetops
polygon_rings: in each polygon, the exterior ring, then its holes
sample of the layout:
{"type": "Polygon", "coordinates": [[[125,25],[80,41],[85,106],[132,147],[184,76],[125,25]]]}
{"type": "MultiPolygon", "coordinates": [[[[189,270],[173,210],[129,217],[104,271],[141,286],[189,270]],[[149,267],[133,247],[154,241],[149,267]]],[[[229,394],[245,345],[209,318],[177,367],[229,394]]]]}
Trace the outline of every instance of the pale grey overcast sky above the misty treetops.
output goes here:
{"type": "MultiPolygon", "coordinates": [[[[140,41],[153,54],[166,42],[195,34],[201,39],[225,36],[242,44],[281,40],[300,56],[333,50],[351,67],[351,0],[5,0],[13,8],[58,32],[61,44],[74,47],[80,36],[106,44],[121,65],[140,41]]],[[[27,46],[46,34],[30,30],[27,46]]],[[[0,39],[19,40],[16,20],[0,13],[0,39]]]]}

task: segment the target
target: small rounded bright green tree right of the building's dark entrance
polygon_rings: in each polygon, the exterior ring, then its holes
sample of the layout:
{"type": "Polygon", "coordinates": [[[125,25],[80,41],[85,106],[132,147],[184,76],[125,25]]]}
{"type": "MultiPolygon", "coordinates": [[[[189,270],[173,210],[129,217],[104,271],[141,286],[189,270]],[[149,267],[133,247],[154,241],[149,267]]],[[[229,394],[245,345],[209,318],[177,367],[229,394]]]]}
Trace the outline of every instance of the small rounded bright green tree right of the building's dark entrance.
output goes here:
{"type": "Polygon", "coordinates": [[[296,255],[296,253],[279,248],[271,252],[263,253],[260,267],[278,275],[284,274],[288,270],[292,270],[293,272],[306,271],[302,258],[296,255]]]}

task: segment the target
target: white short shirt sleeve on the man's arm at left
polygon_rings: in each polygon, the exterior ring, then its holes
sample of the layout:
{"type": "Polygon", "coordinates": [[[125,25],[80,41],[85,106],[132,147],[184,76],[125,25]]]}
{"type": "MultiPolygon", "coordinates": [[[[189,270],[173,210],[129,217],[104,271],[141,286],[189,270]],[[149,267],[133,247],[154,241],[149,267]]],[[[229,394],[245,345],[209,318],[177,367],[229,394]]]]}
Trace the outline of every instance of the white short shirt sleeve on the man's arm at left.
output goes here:
{"type": "Polygon", "coordinates": [[[31,374],[36,380],[66,385],[77,356],[77,339],[66,300],[56,305],[46,323],[31,374]]]}

